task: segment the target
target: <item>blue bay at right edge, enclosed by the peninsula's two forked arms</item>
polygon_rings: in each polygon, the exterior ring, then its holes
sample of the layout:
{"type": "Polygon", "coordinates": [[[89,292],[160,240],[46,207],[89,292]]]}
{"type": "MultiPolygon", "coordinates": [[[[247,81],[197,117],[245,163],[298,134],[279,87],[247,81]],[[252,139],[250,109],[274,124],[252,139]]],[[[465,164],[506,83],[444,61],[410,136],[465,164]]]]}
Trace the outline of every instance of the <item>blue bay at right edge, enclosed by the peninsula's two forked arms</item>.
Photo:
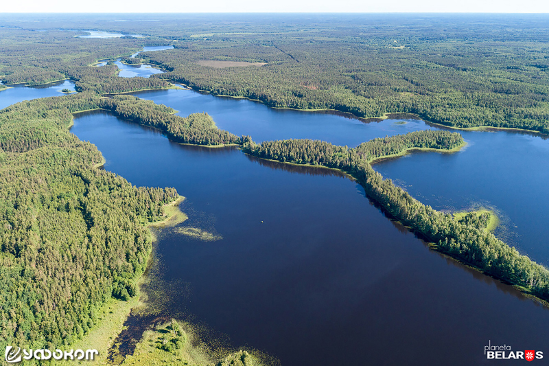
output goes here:
{"type": "Polygon", "coordinates": [[[526,133],[460,131],[457,154],[416,152],[374,168],[434,209],[493,209],[495,234],[549,265],[549,140],[526,133]]]}

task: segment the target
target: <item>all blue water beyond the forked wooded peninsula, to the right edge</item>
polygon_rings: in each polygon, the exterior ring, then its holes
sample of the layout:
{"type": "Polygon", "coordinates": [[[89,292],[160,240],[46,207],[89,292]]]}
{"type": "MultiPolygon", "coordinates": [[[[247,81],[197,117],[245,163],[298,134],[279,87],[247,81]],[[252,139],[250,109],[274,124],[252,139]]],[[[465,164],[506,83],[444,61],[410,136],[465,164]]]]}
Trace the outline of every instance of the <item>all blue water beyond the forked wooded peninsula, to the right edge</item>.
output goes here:
{"type": "MultiPolygon", "coordinates": [[[[375,137],[439,128],[419,119],[364,123],[334,113],[274,109],[259,102],[191,90],[143,91],[135,95],[171,106],[181,116],[207,112],[219,128],[250,135],[258,142],[309,138],[354,147],[375,137]]],[[[377,163],[374,168],[435,209],[493,209],[502,220],[496,236],[548,265],[549,139],[504,131],[458,132],[468,144],[460,152],[417,152],[377,163]]]]}

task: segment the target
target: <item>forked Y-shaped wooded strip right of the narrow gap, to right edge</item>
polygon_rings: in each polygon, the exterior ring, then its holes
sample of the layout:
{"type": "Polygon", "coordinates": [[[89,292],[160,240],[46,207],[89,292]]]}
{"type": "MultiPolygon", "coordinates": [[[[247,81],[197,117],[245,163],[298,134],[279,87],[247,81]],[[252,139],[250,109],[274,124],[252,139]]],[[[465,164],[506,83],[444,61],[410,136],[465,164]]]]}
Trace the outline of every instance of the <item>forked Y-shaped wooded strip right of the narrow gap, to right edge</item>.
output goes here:
{"type": "Polygon", "coordinates": [[[447,149],[459,146],[463,139],[458,133],[446,131],[418,131],[402,136],[374,139],[357,148],[334,146],[325,141],[290,139],[255,144],[243,138],[242,150],[261,157],[288,163],[323,165],[336,168],[355,177],[366,194],[390,216],[396,218],[428,242],[460,261],[479,268],[489,275],[510,284],[521,286],[526,292],[549,300],[549,271],[492,233],[484,231],[488,216],[466,216],[455,220],[450,214],[432,209],[412,198],[408,192],[383,179],[369,164],[371,157],[398,154],[413,146],[447,149]]]}

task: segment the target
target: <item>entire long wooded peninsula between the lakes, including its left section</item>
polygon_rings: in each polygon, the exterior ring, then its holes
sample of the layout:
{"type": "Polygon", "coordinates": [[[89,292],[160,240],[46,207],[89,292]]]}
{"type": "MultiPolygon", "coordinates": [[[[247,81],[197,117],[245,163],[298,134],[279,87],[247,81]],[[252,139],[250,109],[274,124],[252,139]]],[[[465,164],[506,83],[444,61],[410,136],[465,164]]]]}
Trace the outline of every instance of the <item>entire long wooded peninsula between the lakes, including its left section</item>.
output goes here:
{"type": "Polygon", "coordinates": [[[193,141],[193,144],[240,144],[250,155],[285,163],[320,165],[336,168],[355,177],[366,190],[366,194],[390,216],[396,218],[422,238],[433,243],[433,249],[441,251],[465,264],[474,266],[484,273],[504,282],[519,286],[525,293],[549,300],[549,271],[531,261],[525,255],[505,244],[492,233],[485,231],[487,218],[456,220],[425,206],[412,198],[406,191],[396,187],[390,179],[371,168],[370,163],[386,157],[399,156],[410,149],[432,149],[441,152],[464,146],[459,133],[443,130],[423,130],[373,139],[356,148],[334,146],[325,141],[284,140],[266,141],[255,144],[251,137],[238,138],[215,128],[211,117],[203,114],[187,118],[174,116],[170,108],[155,106],[150,101],[131,96],[117,96],[102,100],[102,106],[110,105],[120,117],[154,126],[163,130],[174,141],[193,141]],[[163,118],[156,120],[152,111],[158,111],[163,118]],[[195,119],[204,119],[201,133],[194,132],[195,119]],[[174,132],[176,131],[176,132],[174,132]],[[193,136],[193,139],[189,139],[193,136]],[[220,138],[223,137],[223,139],[220,138]]]}

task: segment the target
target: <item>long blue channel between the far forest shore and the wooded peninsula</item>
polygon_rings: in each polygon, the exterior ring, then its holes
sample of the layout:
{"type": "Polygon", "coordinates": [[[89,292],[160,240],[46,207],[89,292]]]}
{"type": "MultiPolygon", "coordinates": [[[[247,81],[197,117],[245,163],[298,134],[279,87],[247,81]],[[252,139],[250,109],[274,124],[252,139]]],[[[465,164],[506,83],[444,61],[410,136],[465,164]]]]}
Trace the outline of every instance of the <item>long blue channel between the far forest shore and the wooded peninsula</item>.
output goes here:
{"type": "Polygon", "coordinates": [[[400,119],[365,123],[340,113],[311,113],[269,108],[246,99],[216,97],[192,90],[141,91],[139,98],[171,106],[178,115],[207,112],[216,126],[235,135],[250,135],[254,141],[277,139],[322,139],[336,145],[357,146],[375,137],[385,137],[431,128],[421,120],[400,119]]]}

